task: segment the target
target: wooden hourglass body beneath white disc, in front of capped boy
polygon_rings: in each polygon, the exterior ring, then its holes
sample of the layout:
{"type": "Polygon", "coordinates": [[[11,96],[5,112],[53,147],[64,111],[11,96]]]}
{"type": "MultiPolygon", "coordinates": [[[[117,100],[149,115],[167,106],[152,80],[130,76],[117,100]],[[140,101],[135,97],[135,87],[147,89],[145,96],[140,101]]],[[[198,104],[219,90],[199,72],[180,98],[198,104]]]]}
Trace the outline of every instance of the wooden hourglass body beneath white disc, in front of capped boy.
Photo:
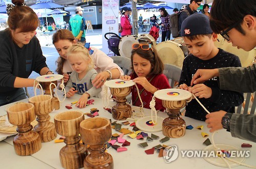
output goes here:
{"type": "Polygon", "coordinates": [[[163,120],[163,135],[170,138],[180,138],[185,135],[185,120],[180,117],[180,109],[186,106],[187,100],[164,101],[163,106],[167,109],[168,117],[163,120]]]}

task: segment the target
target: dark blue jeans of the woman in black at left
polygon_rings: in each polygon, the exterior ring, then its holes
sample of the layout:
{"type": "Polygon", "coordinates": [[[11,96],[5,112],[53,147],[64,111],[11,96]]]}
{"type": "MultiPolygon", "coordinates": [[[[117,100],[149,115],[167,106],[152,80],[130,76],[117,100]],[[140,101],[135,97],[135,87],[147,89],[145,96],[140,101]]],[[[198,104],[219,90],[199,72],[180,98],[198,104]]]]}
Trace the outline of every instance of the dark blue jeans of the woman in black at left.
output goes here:
{"type": "Polygon", "coordinates": [[[9,103],[17,102],[26,99],[26,93],[24,88],[18,88],[15,93],[10,95],[0,96],[0,106],[7,105],[9,103]]]}

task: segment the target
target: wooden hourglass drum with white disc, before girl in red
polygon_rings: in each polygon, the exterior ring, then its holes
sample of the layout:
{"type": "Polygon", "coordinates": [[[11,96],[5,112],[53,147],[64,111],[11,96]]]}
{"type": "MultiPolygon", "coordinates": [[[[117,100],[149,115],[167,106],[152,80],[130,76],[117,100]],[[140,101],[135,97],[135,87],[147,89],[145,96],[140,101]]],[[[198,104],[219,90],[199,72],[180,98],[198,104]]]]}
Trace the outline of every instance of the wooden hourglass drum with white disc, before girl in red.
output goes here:
{"type": "Polygon", "coordinates": [[[126,96],[132,91],[133,81],[120,79],[106,81],[105,86],[110,88],[112,95],[116,97],[116,105],[112,107],[112,117],[117,120],[125,120],[132,116],[132,107],[126,104],[126,96]]]}

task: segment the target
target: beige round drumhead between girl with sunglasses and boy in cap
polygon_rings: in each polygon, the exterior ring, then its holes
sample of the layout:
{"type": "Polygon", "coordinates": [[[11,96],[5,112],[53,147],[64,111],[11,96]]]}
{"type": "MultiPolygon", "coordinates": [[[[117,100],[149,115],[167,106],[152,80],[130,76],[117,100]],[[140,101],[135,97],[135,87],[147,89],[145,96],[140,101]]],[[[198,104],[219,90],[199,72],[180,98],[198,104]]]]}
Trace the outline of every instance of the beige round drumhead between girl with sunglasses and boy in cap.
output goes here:
{"type": "Polygon", "coordinates": [[[158,43],[155,49],[164,64],[173,64],[182,68],[184,53],[180,46],[181,44],[168,40],[158,43]]]}

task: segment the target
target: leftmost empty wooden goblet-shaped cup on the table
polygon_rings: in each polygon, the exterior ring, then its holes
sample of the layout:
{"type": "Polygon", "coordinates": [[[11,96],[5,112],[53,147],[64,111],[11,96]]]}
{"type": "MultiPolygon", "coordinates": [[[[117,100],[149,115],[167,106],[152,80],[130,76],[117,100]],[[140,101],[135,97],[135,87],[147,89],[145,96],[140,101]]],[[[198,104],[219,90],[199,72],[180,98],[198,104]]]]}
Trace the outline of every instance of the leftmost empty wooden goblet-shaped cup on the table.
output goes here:
{"type": "Polygon", "coordinates": [[[13,139],[14,150],[17,155],[28,156],[41,149],[41,138],[33,131],[30,124],[35,119],[34,105],[30,103],[15,104],[7,109],[10,124],[17,126],[13,139]]]}

